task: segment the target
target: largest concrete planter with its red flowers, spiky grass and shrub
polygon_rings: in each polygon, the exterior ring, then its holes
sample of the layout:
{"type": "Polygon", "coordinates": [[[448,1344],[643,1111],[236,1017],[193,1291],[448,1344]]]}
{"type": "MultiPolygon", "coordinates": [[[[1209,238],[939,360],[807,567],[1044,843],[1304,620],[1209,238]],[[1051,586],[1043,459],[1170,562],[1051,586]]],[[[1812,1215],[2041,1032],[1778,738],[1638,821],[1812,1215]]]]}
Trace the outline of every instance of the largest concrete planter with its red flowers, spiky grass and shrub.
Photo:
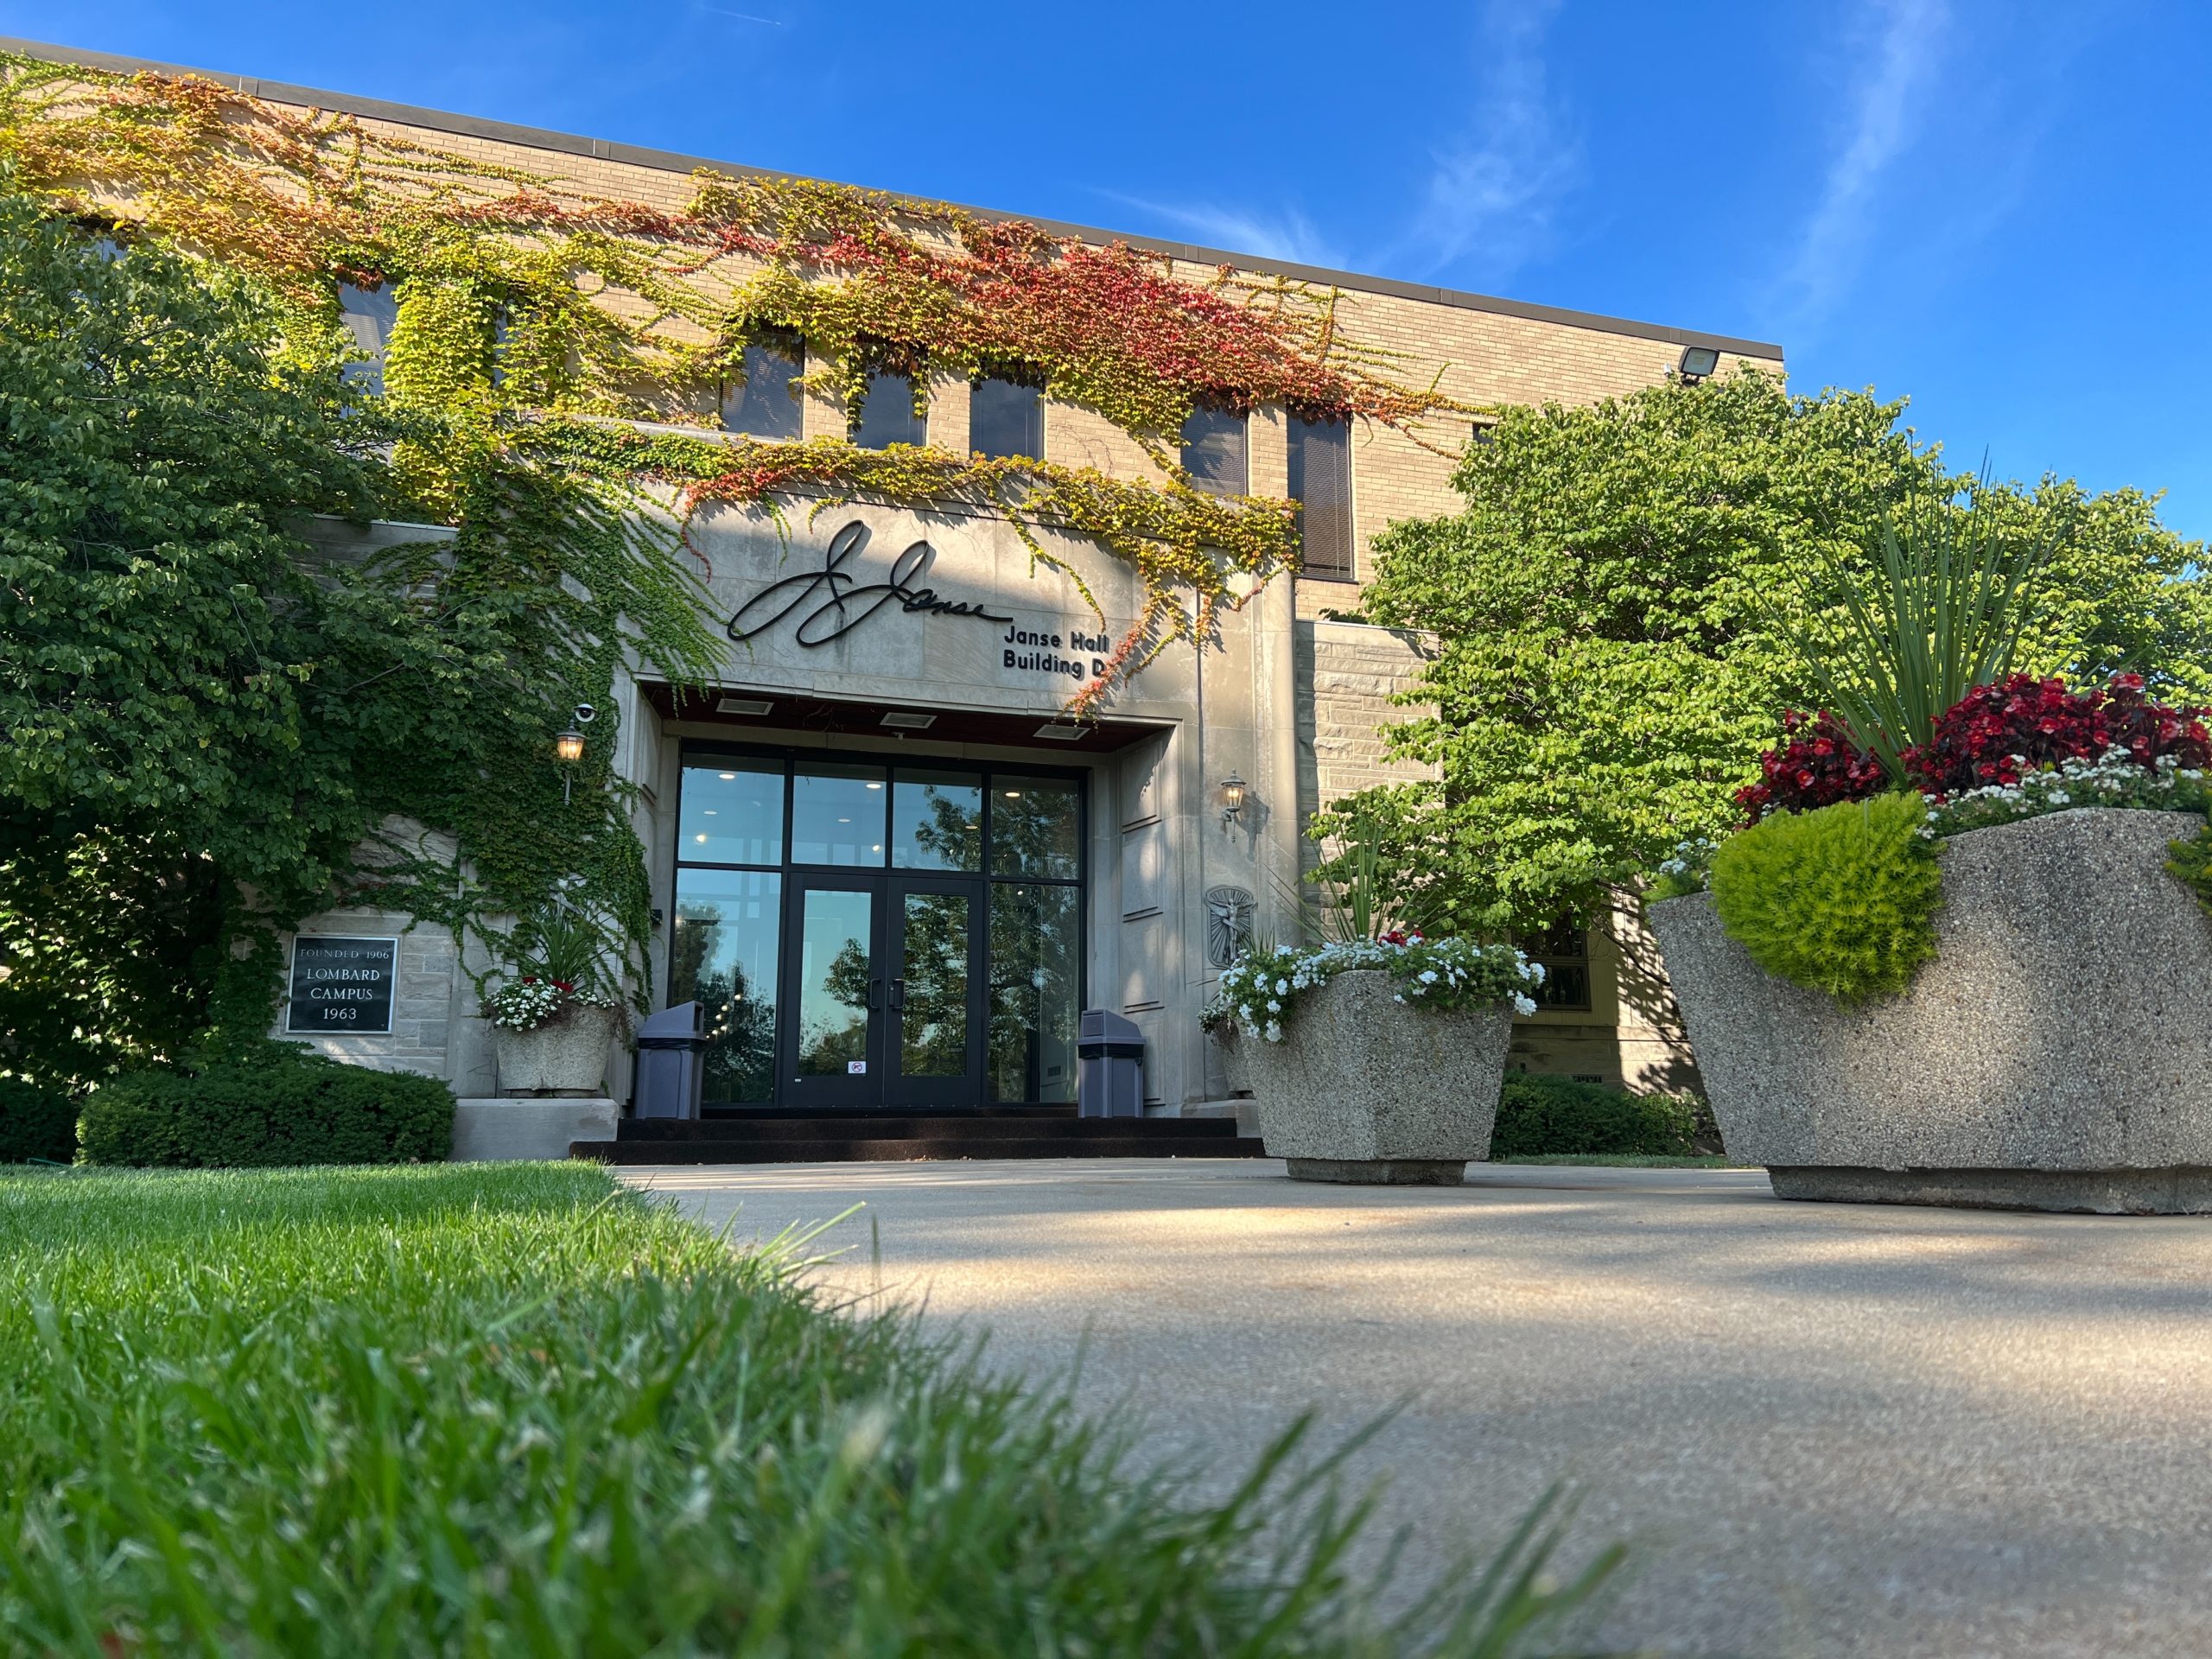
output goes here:
{"type": "Polygon", "coordinates": [[[2033,566],[1971,518],[1885,535],[1834,708],[1661,869],[1699,1073],[1781,1197],[2212,1210],[2205,710],[2011,672],[2033,566]]]}

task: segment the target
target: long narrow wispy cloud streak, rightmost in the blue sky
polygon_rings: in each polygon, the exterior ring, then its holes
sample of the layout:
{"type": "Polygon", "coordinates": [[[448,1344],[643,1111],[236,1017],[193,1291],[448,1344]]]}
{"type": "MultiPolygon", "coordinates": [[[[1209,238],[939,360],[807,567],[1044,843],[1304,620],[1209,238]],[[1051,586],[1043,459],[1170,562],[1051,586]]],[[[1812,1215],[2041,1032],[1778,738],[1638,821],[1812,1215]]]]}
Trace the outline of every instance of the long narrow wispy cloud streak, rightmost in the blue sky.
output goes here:
{"type": "Polygon", "coordinates": [[[1922,131],[1949,22],[1947,0],[1871,0],[1867,7],[1845,58],[1847,119],[1778,283],[1801,330],[1816,327],[1865,265],[1882,184],[1922,131]]]}

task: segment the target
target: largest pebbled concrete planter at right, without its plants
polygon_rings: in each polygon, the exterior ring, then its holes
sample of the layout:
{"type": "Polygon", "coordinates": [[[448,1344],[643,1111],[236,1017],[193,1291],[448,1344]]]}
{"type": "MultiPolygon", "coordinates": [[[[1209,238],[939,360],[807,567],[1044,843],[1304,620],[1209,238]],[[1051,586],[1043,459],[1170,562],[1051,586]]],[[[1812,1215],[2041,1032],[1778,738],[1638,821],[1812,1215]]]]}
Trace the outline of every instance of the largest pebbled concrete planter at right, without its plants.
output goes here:
{"type": "Polygon", "coordinates": [[[1650,920],[1732,1157],[1785,1199],[2212,1210],[2197,818],[2086,807],[1953,836],[1936,960],[1849,1009],[1770,978],[1710,894],[1650,920]]]}

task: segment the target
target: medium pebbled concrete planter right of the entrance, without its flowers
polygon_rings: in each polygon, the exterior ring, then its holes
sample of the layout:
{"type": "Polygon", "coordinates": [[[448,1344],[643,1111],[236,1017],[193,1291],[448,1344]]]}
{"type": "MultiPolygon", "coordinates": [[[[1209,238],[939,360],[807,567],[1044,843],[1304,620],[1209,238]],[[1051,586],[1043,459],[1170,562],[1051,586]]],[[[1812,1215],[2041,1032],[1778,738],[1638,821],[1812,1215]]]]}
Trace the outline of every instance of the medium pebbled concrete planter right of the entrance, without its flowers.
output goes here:
{"type": "Polygon", "coordinates": [[[1491,1150],[1513,1011],[1396,1000],[1380,969],[1298,995],[1283,1042],[1239,1035],[1270,1157],[1301,1181],[1458,1186],[1491,1150]]]}

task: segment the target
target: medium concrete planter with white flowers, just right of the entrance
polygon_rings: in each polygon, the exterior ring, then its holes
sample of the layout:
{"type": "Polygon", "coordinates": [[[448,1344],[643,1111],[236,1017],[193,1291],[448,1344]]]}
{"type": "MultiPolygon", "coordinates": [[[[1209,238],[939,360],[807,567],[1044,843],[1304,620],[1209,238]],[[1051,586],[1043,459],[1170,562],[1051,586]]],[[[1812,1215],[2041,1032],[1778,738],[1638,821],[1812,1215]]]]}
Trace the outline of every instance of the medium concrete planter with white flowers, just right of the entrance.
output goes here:
{"type": "Polygon", "coordinates": [[[1542,982],[1511,947],[1389,931],[1239,958],[1206,1026],[1237,1031],[1294,1179],[1453,1186],[1489,1155],[1513,1015],[1542,982]]]}

